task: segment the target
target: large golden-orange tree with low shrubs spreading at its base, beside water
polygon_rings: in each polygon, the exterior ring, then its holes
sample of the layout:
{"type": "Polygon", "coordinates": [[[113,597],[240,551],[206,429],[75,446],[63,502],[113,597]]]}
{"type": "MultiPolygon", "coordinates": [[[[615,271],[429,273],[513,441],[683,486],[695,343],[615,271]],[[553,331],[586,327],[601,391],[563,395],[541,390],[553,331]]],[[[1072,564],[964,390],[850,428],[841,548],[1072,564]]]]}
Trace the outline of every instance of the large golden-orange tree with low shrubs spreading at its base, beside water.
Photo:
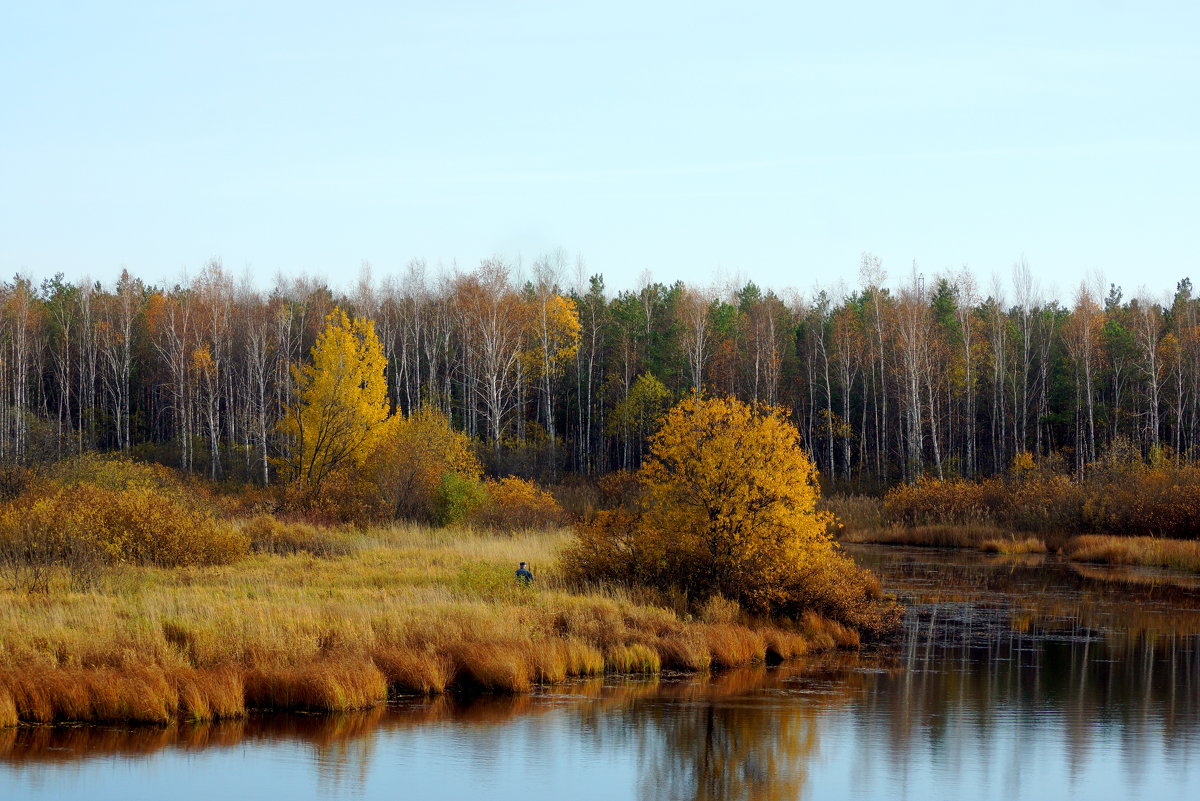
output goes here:
{"type": "Polygon", "coordinates": [[[649,440],[637,501],[581,526],[564,556],[568,574],[886,631],[898,624],[896,608],[830,540],[816,478],[784,410],[686,398],[649,440]]]}

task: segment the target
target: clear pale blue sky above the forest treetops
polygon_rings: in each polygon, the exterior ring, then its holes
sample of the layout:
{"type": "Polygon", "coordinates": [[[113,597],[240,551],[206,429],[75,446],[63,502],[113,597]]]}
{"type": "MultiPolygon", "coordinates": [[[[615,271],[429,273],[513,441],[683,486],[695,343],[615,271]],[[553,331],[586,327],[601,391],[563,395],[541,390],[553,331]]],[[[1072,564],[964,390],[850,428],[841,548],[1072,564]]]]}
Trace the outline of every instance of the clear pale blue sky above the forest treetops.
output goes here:
{"type": "Polygon", "coordinates": [[[0,276],[1200,283],[1194,2],[7,2],[0,276]]]}

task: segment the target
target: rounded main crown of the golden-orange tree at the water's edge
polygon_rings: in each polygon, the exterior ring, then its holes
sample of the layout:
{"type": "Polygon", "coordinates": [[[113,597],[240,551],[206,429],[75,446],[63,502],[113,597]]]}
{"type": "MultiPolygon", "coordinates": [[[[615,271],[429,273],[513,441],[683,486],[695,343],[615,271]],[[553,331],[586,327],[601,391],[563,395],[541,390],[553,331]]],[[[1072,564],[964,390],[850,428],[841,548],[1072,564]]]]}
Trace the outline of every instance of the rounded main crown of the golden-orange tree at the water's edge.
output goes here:
{"type": "Polygon", "coordinates": [[[816,468],[780,409],[683,401],[650,438],[641,483],[689,584],[746,608],[781,606],[796,567],[833,548],[816,468]]]}

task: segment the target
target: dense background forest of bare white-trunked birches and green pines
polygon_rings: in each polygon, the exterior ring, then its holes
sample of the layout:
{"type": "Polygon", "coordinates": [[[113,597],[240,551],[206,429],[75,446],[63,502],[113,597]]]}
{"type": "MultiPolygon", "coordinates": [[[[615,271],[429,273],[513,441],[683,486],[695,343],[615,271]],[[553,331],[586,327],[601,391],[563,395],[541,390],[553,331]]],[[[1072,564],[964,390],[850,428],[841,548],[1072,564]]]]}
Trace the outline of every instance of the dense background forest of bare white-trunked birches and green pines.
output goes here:
{"type": "Polygon", "coordinates": [[[1086,283],[1039,294],[1024,261],[892,285],[610,291],[564,253],[518,271],[413,261],[350,289],[220,263],[155,287],[61,276],[0,285],[0,463],[120,451],[214,478],[276,480],[280,421],[325,317],[370,319],[402,414],[444,412],[487,468],[556,480],[634,469],[670,405],[701,390],[788,409],[826,482],[976,477],[1032,454],[1082,474],[1114,445],[1192,459],[1200,438],[1200,299],[1086,283]],[[520,275],[518,275],[520,273],[520,275]]]}

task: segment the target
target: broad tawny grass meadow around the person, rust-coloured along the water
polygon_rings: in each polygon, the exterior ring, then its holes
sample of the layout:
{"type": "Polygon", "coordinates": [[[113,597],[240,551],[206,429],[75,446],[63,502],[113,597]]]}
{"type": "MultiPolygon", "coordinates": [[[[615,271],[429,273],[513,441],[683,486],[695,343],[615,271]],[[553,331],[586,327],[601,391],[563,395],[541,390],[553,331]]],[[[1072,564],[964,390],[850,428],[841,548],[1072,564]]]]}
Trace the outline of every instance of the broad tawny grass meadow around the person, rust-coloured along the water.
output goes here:
{"type": "Polygon", "coordinates": [[[366,709],[394,693],[521,693],[858,644],[815,615],[785,631],[748,626],[732,604],[691,619],[661,598],[571,591],[554,565],[568,536],[398,526],[341,535],[334,555],[0,590],[0,725],[366,709]],[[538,573],[532,588],[512,579],[522,560],[538,573]]]}

